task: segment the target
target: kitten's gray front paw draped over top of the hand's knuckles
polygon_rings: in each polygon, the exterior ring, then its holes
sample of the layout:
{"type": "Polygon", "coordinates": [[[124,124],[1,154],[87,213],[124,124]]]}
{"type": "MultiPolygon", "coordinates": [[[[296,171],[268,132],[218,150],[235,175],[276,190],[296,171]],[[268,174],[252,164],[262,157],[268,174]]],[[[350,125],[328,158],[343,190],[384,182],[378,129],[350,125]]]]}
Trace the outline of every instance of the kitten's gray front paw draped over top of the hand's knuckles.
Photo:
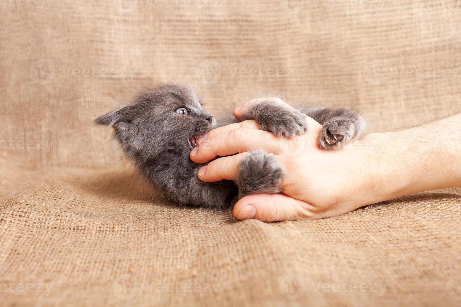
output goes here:
{"type": "Polygon", "coordinates": [[[273,99],[253,105],[245,117],[255,119],[262,130],[272,132],[277,136],[292,138],[296,134],[305,133],[307,130],[306,115],[273,99]]]}

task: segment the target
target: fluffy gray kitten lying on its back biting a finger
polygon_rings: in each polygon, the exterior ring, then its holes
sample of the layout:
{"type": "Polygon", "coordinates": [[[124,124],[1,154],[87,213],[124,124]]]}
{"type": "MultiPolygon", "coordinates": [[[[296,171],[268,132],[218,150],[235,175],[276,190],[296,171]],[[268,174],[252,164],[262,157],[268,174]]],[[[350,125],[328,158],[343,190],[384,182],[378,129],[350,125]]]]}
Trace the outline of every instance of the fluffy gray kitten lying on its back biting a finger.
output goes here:
{"type": "Polygon", "coordinates": [[[240,162],[235,182],[203,182],[197,172],[205,164],[189,158],[195,139],[213,128],[248,119],[278,136],[293,137],[307,130],[306,115],[323,125],[319,145],[324,149],[355,139],[364,127],[362,117],[348,109],[295,110],[271,101],[252,105],[241,119],[229,116],[218,123],[191,88],[172,84],[148,89],[95,122],[114,128],[114,138],[125,154],[174,203],[228,208],[249,194],[280,193],[284,168],[272,154],[253,151],[240,162]]]}

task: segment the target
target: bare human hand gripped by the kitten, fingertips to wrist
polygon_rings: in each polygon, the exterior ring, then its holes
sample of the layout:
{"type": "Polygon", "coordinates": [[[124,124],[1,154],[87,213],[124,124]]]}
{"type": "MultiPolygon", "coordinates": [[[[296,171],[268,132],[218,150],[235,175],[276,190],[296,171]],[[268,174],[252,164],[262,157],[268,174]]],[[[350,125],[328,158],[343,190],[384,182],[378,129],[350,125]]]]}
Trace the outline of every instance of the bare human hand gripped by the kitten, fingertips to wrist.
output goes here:
{"type": "MultiPolygon", "coordinates": [[[[255,99],[236,109],[235,116],[240,117],[242,110],[254,102],[255,99]]],[[[283,102],[279,100],[279,103],[283,102]]],[[[317,139],[322,126],[309,117],[306,117],[306,122],[308,131],[291,139],[278,138],[259,130],[258,123],[253,120],[212,130],[207,139],[198,140],[199,146],[190,157],[198,163],[210,161],[216,156],[222,157],[202,168],[198,178],[207,182],[233,180],[238,172],[238,162],[247,152],[264,150],[273,153],[286,169],[282,180],[283,194],[243,197],[234,206],[237,218],[265,221],[319,219],[360,207],[345,195],[362,194],[364,191],[358,185],[374,184],[369,182],[369,177],[363,176],[370,172],[370,168],[366,168],[367,157],[363,152],[359,155],[352,151],[319,149],[317,139]],[[355,179],[351,180],[351,176],[355,179]]]]}

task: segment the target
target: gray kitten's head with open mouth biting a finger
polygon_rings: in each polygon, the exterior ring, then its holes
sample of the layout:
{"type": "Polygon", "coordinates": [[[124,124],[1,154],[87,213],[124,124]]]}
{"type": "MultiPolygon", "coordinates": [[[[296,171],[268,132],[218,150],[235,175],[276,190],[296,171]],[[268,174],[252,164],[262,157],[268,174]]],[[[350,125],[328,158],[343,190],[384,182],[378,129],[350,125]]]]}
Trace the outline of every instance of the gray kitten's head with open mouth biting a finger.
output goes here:
{"type": "Polygon", "coordinates": [[[189,153],[214,121],[191,88],[170,84],[142,92],[95,122],[114,128],[114,138],[128,156],[147,159],[165,151],[189,153]]]}

